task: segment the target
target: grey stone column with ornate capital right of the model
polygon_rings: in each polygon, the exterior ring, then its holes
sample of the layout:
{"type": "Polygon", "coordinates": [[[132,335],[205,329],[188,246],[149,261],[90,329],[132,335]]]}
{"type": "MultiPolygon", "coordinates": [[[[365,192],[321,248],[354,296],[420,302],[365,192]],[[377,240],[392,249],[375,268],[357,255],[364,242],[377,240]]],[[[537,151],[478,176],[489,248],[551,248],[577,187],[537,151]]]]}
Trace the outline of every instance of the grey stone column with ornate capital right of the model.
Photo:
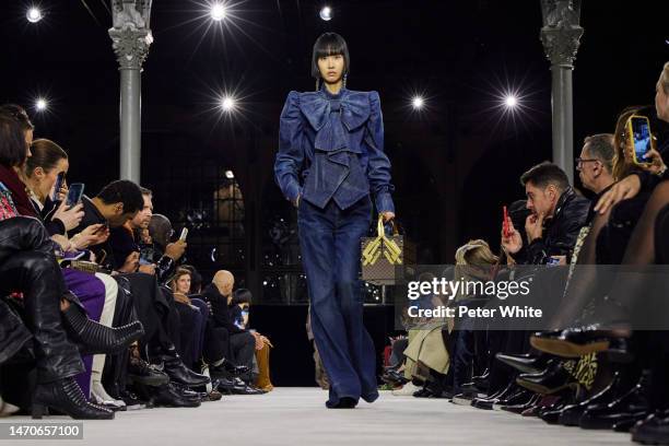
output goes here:
{"type": "Polygon", "coordinates": [[[541,42],[551,61],[553,162],[574,184],[574,116],[572,71],[583,27],[579,0],[541,0],[541,42]]]}

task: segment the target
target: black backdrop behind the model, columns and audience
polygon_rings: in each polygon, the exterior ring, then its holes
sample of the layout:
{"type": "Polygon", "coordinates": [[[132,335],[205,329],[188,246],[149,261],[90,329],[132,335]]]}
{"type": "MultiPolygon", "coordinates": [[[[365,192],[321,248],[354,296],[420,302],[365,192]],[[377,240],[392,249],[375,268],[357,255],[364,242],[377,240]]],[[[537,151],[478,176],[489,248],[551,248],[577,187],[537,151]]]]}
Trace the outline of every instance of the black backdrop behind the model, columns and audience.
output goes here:
{"type": "MultiPolygon", "coordinates": [[[[0,101],[28,108],[36,137],[70,154],[70,183],[85,183],[95,193],[119,174],[119,73],[107,34],[111,17],[103,1],[85,3],[91,12],[81,0],[40,0],[47,16],[30,25],[28,2],[2,2],[0,101]],[[49,113],[31,108],[38,95],[49,98],[49,113]]],[[[587,134],[613,131],[622,108],[653,103],[669,60],[668,2],[584,3],[575,156],[587,134]]],[[[281,385],[308,384],[312,371],[306,308],[277,305],[303,304],[304,290],[300,298],[273,301],[262,285],[300,274],[294,258],[280,266],[263,261],[287,249],[271,246],[272,222],[294,222],[273,184],[272,163],[285,95],[314,87],[310,48],[319,34],[347,38],[349,89],[380,93],[398,215],[419,244],[419,261],[453,262],[456,247],[472,237],[496,248],[502,204],[521,198],[519,175],[551,155],[551,79],[538,0],[329,4],[334,17],[324,22],[317,1],[237,1],[220,27],[211,25],[203,0],[154,0],[155,42],[142,74],[142,185],[154,190],[156,212],[178,226],[189,223],[184,210],[211,210],[222,173],[235,173],[244,232],[216,232],[215,222],[193,227],[189,261],[206,277],[231,269],[263,303],[253,322],[278,345],[273,374],[281,385]],[[521,105],[513,116],[498,106],[509,90],[521,105]],[[233,115],[216,108],[224,91],[239,99],[233,115]],[[426,98],[421,113],[410,107],[416,93],[426,98]],[[209,260],[211,246],[223,239],[238,257],[209,260]]],[[[391,312],[369,312],[380,348],[391,312]]]]}

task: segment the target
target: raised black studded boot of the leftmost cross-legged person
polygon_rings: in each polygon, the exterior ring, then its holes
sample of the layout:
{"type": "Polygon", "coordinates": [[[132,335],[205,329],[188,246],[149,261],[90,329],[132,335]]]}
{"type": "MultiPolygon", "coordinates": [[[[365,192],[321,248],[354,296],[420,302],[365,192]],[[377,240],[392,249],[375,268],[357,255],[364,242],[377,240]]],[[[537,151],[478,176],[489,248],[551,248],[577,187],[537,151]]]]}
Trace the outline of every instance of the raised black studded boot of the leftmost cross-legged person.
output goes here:
{"type": "Polygon", "coordinates": [[[122,327],[106,327],[89,319],[77,305],[70,305],[62,315],[70,332],[83,345],[83,354],[118,353],[144,336],[139,320],[122,327]]]}

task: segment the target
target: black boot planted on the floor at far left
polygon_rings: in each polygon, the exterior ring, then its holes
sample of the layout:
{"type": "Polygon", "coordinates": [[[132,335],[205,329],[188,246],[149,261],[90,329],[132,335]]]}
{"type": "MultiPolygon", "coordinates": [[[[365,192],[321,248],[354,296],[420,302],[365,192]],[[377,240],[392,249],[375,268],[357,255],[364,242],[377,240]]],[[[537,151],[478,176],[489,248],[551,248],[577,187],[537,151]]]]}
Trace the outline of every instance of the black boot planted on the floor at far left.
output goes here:
{"type": "Polygon", "coordinates": [[[86,400],[74,378],[37,385],[33,394],[33,419],[42,420],[49,408],[70,415],[74,420],[114,419],[113,411],[86,400]]]}

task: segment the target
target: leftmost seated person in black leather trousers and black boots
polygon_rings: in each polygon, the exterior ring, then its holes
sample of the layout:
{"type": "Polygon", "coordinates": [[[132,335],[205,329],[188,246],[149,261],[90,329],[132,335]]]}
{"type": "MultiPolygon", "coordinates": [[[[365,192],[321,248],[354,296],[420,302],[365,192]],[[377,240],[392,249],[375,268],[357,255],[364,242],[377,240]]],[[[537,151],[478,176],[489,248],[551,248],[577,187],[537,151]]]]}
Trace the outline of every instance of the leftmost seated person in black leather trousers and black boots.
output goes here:
{"type": "Polygon", "coordinates": [[[2,294],[22,293],[21,303],[35,337],[38,385],[33,395],[33,416],[40,418],[45,408],[51,407],[73,418],[110,419],[114,412],[87,402],[74,380],[84,367],[66,329],[93,353],[107,353],[127,345],[137,330],[131,327],[118,331],[93,322],[79,300],[68,291],[56,262],[56,246],[37,220],[38,214],[19,177],[31,142],[32,125],[25,111],[15,106],[1,107],[0,220],[4,237],[0,283],[2,294]]]}

